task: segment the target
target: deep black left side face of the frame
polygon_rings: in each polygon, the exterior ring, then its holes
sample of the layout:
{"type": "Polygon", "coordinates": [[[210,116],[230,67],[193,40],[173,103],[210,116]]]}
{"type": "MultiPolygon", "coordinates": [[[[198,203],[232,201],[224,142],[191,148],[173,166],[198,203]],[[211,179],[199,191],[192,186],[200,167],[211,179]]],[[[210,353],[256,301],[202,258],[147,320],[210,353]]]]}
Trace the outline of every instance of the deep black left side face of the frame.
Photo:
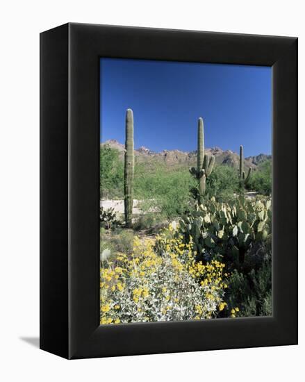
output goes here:
{"type": "Polygon", "coordinates": [[[40,33],[40,349],[68,358],[67,24],[40,33]]]}

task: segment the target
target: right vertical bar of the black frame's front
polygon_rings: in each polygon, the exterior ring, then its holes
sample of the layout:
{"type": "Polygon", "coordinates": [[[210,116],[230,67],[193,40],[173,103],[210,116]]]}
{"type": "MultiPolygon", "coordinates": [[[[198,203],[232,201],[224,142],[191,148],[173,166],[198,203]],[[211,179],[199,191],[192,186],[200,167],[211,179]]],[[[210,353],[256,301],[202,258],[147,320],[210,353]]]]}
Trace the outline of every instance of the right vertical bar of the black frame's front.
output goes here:
{"type": "Polygon", "coordinates": [[[279,335],[287,344],[298,343],[298,63],[297,38],[285,54],[274,63],[272,71],[278,81],[273,89],[273,140],[281,143],[281,151],[273,153],[273,223],[278,232],[273,234],[272,254],[274,282],[273,297],[277,306],[279,335]],[[289,157],[288,157],[289,156],[289,157]],[[289,240],[283,240],[288,235],[289,240]],[[279,260],[281,263],[279,263],[279,260]],[[289,280],[289,282],[287,281],[289,280]]]}

